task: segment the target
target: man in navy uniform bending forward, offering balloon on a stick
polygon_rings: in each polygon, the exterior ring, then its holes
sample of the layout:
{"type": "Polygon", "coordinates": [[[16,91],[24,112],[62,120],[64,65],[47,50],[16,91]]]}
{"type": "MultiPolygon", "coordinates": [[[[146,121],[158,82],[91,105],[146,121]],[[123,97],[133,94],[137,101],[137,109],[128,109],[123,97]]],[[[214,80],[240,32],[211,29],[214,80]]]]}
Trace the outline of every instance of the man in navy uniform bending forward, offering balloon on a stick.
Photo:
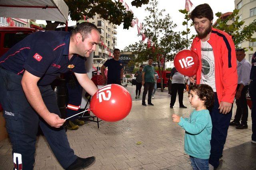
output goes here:
{"type": "Polygon", "coordinates": [[[100,41],[98,28],[89,22],[70,33],[38,31],[28,35],[0,58],[0,103],[12,143],[15,167],[32,170],[35,162],[36,133],[40,125],[61,166],[67,170],[84,168],[95,157],[80,158],[70,148],[62,127],[56,94],[50,84],[60,73],[72,71],[90,95],[98,88],[88,78],[85,58],[100,41]]]}

